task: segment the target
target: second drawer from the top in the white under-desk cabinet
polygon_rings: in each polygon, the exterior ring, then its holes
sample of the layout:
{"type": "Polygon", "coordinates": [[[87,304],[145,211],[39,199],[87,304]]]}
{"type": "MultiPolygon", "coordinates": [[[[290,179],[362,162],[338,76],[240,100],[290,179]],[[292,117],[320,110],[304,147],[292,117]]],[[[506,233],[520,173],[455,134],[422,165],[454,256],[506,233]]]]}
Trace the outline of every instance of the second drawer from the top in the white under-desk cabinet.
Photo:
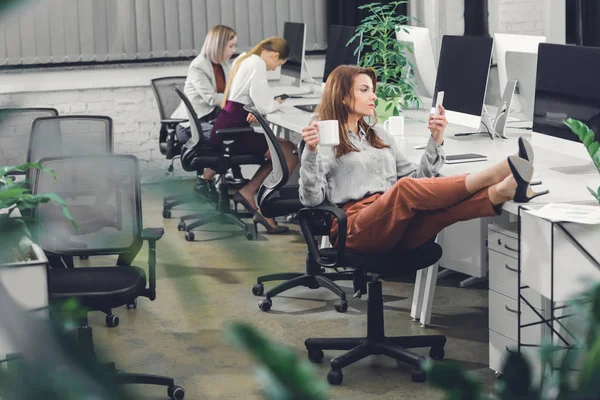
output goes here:
{"type": "MultiPolygon", "coordinates": [[[[517,259],[509,257],[505,254],[490,250],[489,255],[489,288],[495,292],[517,300],[518,297],[518,267],[517,259]]],[[[521,284],[523,285],[523,284],[521,284]]],[[[531,303],[532,306],[539,310],[543,310],[542,295],[533,289],[523,289],[523,296],[531,303]]]]}

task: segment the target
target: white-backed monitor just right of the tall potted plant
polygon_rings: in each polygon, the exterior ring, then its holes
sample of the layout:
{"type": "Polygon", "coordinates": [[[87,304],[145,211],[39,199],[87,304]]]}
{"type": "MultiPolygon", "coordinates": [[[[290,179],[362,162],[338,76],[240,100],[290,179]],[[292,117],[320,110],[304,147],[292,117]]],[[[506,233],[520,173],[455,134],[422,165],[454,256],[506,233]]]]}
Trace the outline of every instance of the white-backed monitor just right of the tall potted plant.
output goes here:
{"type": "Polygon", "coordinates": [[[415,68],[416,92],[419,96],[433,98],[437,67],[433,57],[433,46],[429,29],[418,26],[403,26],[396,32],[396,39],[412,46],[413,52],[405,56],[415,68]]]}

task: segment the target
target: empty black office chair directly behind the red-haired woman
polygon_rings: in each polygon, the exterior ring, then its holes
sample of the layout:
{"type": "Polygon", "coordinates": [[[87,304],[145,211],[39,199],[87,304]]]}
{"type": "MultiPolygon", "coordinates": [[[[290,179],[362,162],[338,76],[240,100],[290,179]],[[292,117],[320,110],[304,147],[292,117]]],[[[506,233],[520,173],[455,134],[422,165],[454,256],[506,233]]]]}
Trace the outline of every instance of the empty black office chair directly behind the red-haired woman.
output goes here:
{"type": "MultiPolygon", "coordinates": [[[[245,109],[256,117],[265,131],[265,138],[267,140],[267,144],[269,145],[271,161],[273,164],[273,171],[269,174],[269,176],[267,176],[258,190],[257,197],[260,211],[265,217],[268,218],[295,214],[304,207],[300,202],[300,195],[298,193],[300,167],[298,166],[291,178],[288,179],[289,171],[283,155],[283,150],[279,145],[277,137],[269,127],[268,122],[255,107],[246,106],[245,109]]],[[[301,150],[302,147],[299,147],[299,157],[301,155],[301,150]]],[[[306,257],[306,270],[304,273],[283,272],[279,274],[259,276],[256,279],[254,286],[252,286],[252,293],[255,296],[262,296],[265,290],[263,285],[264,282],[281,280],[286,282],[283,282],[269,290],[265,298],[258,303],[258,306],[262,311],[269,311],[271,309],[273,306],[272,298],[274,296],[298,286],[306,286],[311,289],[324,287],[335,293],[340,298],[340,300],[335,303],[336,311],[346,312],[346,310],[348,310],[346,293],[342,288],[336,285],[334,281],[352,281],[352,273],[325,273],[321,269],[321,266],[317,264],[312,257],[310,257],[310,254],[308,254],[306,257]]]]}

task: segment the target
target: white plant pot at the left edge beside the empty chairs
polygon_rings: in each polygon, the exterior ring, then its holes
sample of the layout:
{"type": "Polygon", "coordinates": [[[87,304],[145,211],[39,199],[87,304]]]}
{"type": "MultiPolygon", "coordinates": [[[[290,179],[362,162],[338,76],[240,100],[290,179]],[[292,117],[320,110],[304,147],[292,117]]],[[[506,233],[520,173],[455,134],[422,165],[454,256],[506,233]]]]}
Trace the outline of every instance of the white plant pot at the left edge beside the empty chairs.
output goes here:
{"type": "MultiPolygon", "coordinates": [[[[0,264],[0,283],[26,312],[48,318],[48,259],[35,243],[22,241],[21,250],[31,254],[32,259],[0,264]]],[[[0,360],[6,359],[7,354],[23,350],[15,348],[12,342],[7,332],[0,329],[0,360]]]]}

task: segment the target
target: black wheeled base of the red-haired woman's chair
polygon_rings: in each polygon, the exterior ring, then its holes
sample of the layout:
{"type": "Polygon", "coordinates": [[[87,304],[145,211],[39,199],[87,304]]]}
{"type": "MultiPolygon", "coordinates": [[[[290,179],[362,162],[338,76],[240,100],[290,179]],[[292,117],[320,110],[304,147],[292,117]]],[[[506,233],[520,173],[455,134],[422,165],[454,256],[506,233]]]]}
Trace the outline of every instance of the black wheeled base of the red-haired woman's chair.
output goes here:
{"type": "Polygon", "coordinates": [[[444,358],[446,337],[443,335],[386,337],[383,325],[381,282],[370,282],[368,288],[367,336],[364,338],[307,339],[304,344],[308,351],[309,360],[320,363],[324,357],[323,350],[349,350],[347,353],[331,360],[331,371],[327,374],[327,381],[332,385],[342,383],[342,368],[370,355],[379,354],[413,366],[413,382],[425,382],[426,375],[423,367],[426,358],[408,349],[431,347],[429,356],[434,360],[442,360],[444,358]]]}

